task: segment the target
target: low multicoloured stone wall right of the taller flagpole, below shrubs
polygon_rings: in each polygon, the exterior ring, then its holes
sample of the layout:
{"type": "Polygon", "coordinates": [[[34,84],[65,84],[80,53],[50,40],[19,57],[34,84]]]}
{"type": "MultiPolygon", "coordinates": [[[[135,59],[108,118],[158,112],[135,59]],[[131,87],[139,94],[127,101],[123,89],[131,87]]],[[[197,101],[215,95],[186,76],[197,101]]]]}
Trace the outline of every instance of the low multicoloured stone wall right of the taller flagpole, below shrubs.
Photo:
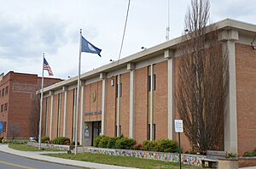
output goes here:
{"type": "MultiPolygon", "coordinates": [[[[162,153],[153,151],[131,150],[131,149],[103,149],[95,147],[84,147],[84,152],[104,155],[132,156],[148,160],[179,162],[178,153],[162,153]]],[[[201,166],[201,160],[206,158],[205,155],[186,155],[182,154],[183,164],[201,166]]]]}

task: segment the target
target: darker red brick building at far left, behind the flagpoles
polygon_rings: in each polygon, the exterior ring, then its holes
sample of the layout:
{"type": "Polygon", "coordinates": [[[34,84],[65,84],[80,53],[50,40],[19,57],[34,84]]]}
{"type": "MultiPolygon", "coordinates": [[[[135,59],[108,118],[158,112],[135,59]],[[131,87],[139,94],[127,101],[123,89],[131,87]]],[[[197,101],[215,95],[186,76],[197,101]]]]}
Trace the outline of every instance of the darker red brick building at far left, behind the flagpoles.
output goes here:
{"type": "MultiPolygon", "coordinates": [[[[38,129],[39,102],[36,91],[41,77],[9,71],[0,76],[0,137],[27,139],[38,129]],[[36,125],[36,126],[35,126],[36,125]]],[[[44,87],[61,79],[44,78],[44,87]]]]}

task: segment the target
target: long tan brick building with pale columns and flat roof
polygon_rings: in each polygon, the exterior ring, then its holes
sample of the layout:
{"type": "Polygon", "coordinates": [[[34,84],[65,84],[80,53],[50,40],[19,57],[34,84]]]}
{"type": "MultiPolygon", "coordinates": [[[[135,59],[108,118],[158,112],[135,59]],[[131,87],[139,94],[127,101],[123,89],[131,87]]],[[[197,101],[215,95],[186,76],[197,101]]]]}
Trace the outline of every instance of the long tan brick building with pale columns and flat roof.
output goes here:
{"type": "MultiPolygon", "coordinates": [[[[228,49],[229,95],[224,115],[225,150],[240,154],[256,148],[256,25],[236,20],[216,23],[228,49]],[[256,42],[253,42],[255,45],[256,42]]],[[[177,45],[182,37],[147,48],[81,75],[79,142],[92,145],[98,135],[177,140],[177,45]]],[[[74,138],[77,77],[44,89],[42,135],[74,138]]],[[[183,150],[190,145],[184,134],[183,150]]]]}

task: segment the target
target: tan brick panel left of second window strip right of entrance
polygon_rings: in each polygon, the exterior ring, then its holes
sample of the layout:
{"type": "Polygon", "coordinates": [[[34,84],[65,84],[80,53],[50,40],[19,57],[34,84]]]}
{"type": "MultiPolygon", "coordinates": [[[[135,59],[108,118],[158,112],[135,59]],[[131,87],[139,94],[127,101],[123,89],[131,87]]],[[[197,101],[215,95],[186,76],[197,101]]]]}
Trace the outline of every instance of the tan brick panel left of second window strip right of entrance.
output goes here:
{"type": "Polygon", "coordinates": [[[142,143],[147,139],[148,67],[136,70],[135,87],[135,139],[142,143]]]}

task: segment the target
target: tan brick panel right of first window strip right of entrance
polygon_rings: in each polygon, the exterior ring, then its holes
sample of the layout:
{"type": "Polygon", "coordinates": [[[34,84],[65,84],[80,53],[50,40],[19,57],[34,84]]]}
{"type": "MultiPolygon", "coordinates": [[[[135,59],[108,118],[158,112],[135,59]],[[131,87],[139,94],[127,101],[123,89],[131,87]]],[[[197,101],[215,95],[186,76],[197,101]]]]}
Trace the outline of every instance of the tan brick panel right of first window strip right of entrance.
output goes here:
{"type": "Polygon", "coordinates": [[[130,72],[120,76],[122,83],[122,97],[120,98],[120,121],[121,134],[129,137],[129,121],[130,121],[130,72]]]}

